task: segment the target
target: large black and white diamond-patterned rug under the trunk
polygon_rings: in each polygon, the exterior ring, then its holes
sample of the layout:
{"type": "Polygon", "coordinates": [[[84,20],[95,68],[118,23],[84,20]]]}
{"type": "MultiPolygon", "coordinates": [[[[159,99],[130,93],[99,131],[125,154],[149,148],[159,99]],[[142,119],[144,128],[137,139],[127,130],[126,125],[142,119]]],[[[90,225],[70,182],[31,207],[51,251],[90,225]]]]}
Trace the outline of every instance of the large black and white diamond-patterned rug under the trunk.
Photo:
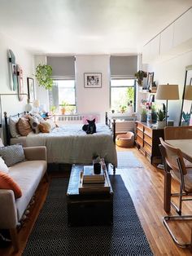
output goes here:
{"type": "Polygon", "coordinates": [[[112,226],[68,227],[68,179],[52,179],[23,255],[153,255],[120,175],[111,176],[112,226]]]}

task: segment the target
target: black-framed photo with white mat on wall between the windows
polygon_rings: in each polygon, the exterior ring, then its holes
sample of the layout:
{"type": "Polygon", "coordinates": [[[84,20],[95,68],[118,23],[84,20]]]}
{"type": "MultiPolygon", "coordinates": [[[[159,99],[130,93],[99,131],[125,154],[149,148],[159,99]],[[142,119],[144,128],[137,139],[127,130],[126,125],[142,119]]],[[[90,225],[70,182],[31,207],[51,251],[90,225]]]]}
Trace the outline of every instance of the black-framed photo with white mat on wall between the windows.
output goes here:
{"type": "Polygon", "coordinates": [[[102,73],[84,73],[85,88],[101,88],[102,73]]]}

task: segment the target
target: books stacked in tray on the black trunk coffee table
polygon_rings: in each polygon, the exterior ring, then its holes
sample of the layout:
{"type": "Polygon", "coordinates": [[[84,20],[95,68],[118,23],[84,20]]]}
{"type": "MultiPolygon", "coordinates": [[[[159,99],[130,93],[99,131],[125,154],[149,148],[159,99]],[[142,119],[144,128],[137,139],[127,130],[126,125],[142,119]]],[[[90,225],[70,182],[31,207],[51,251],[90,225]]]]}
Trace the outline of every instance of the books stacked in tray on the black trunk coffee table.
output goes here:
{"type": "Polygon", "coordinates": [[[101,170],[101,174],[94,174],[93,166],[84,166],[81,172],[80,193],[88,192],[109,192],[110,187],[106,179],[105,170],[101,170]]]}

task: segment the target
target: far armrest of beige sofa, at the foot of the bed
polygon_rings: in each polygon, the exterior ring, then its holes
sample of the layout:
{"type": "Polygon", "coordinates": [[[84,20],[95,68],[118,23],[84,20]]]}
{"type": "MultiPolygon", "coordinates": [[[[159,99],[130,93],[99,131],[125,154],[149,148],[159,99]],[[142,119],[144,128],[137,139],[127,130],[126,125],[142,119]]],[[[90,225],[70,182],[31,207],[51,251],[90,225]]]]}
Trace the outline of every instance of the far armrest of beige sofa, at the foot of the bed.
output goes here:
{"type": "Polygon", "coordinates": [[[28,147],[24,148],[24,155],[28,161],[45,160],[46,161],[46,147],[28,147]]]}

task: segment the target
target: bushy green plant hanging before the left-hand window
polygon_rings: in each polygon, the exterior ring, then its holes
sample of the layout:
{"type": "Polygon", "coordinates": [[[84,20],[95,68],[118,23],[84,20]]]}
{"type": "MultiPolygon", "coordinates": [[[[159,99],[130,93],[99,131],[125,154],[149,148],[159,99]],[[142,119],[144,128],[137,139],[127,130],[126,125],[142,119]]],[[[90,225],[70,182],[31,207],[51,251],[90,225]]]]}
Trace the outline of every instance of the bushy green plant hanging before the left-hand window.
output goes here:
{"type": "Polygon", "coordinates": [[[50,77],[52,75],[52,67],[50,65],[38,64],[36,68],[35,77],[39,86],[44,87],[46,90],[51,90],[53,86],[53,79],[50,77]]]}

